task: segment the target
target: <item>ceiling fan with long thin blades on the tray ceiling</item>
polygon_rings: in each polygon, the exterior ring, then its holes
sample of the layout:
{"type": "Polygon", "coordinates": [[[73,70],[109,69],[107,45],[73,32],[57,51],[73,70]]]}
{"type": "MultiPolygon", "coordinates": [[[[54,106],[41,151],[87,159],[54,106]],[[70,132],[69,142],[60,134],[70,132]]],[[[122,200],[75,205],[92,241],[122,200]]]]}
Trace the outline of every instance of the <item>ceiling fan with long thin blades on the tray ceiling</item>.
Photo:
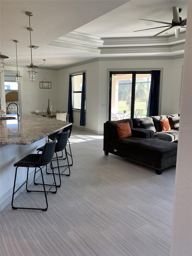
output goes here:
{"type": "MultiPolygon", "coordinates": [[[[181,11],[182,11],[181,8],[173,7],[173,20],[172,20],[172,23],[162,22],[162,21],[157,21],[157,20],[145,20],[145,21],[163,23],[163,24],[167,24],[168,25],[168,26],[151,28],[151,29],[159,29],[159,28],[168,27],[168,29],[165,29],[165,30],[161,31],[161,32],[157,33],[156,35],[159,35],[159,34],[165,32],[165,31],[173,28],[175,30],[175,38],[179,38],[180,37],[180,28],[186,29],[186,24],[187,24],[187,18],[182,20],[182,18],[179,17],[179,14],[180,14],[181,11]]],[[[139,20],[144,20],[144,19],[139,19],[139,20]]],[[[141,29],[141,30],[136,30],[134,32],[143,31],[143,30],[149,30],[149,29],[141,29]]],[[[154,35],[154,36],[156,36],[156,35],[154,35]]],[[[153,38],[154,36],[152,36],[150,38],[153,38]]]]}

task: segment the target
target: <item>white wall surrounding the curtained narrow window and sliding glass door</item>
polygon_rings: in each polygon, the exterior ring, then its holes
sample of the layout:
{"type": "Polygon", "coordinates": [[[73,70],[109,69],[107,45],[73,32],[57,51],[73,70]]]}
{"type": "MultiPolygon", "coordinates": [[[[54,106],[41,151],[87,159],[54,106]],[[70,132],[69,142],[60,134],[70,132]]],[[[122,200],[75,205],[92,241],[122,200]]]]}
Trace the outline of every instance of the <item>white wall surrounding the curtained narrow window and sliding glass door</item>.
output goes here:
{"type": "MultiPolygon", "coordinates": [[[[58,71],[58,101],[67,108],[69,74],[86,70],[85,128],[102,133],[108,120],[109,70],[162,69],[160,114],[179,113],[183,59],[97,61],[58,71]],[[63,97],[64,95],[64,97],[63,97]],[[63,102],[64,100],[64,102],[63,102]],[[102,107],[106,104],[106,107],[102,107]]],[[[79,126],[80,113],[74,112],[74,125],[79,126]]]]}

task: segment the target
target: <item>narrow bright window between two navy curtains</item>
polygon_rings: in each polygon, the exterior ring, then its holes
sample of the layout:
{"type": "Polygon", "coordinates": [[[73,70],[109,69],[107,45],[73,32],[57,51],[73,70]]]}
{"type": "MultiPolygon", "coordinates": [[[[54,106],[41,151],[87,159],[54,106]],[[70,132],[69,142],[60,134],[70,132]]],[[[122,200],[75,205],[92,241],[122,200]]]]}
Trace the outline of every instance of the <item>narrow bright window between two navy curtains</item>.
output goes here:
{"type": "Polygon", "coordinates": [[[81,110],[83,74],[76,74],[72,77],[73,109],[81,110]]]}

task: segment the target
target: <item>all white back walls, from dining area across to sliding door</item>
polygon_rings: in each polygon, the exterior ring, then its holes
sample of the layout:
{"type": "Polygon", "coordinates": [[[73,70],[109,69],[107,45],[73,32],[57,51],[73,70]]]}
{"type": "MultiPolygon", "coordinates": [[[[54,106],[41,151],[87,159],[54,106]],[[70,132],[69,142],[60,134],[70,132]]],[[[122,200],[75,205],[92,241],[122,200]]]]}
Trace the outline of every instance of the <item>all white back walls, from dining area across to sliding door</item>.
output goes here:
{"type": "MultiPolygon", "coordinates": [[[[86,114],[85,127],[95,133],[103,132],[103,124],[108,120],[109,71],[156,70],[162,69],[162,95],[160,114],[179,113],[183,59],[175,60],[108,60],[97,61],[59,71],[46,70],[46,77],[52,82],[52,89],[40,89],[39,81],[44,78],[44,70],[37,69],[35,82],[29,81],[28,69],[19,68],[21,77],[22,113],[35,109],[46,110],[48,98],[52,110],[67,110],[69,74],[86,71],[86,114]],[[103,107],[102,104],[106,104],[103,107]]],[[[5,71],[16,70],[5,67],[5,71]]],[[[3,99],[1,99],[2,105],[3,99]]],[[[74,125],[79,126],[80,111],[73,111],[74,125]]]]}

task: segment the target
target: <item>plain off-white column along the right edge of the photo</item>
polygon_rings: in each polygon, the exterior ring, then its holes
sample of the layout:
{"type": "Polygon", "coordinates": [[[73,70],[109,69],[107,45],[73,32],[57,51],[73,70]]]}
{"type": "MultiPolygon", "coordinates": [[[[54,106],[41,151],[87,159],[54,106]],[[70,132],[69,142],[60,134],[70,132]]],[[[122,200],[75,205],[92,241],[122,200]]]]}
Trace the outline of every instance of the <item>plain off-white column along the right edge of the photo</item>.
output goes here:
{"type": "Polygon", "coordinates": [[[179,126],[170,255],[190,256],[192,255],[192,1],[190,0],[187,8],[179,126]]]}

